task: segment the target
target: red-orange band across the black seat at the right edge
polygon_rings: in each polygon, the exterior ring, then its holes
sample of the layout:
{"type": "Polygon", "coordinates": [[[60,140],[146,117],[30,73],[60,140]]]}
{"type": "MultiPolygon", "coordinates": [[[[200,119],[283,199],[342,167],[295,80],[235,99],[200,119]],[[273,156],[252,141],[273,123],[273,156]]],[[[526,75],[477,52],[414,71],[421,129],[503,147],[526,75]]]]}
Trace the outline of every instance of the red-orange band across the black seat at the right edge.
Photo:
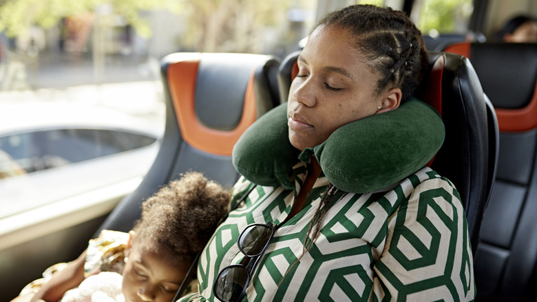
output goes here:
{"type": "Polygon", "coordinates": [[[537,127],[537,81],[535,83],[534,95],[529,104],[520,109],[496,108],[498,117],[498,128],[500,131],[520,132],[537,127]]]}

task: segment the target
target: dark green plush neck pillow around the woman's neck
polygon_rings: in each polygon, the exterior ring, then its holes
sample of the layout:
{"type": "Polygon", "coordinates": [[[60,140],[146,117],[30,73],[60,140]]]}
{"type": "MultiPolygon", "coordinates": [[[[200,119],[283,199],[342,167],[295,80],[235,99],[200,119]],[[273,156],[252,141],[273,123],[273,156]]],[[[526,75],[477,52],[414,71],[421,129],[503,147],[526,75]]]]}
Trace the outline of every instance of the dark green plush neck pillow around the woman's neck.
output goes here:
{"type": "Polygon", "coordinates": [[[295,188],[293,165],[315,155],[324,175],[339,190],[380,190],[423,168],[440,149],[445,129],[438,112],[412,99],[396,110],[341,126],[302,153],[288,139],[287,104],[257,119],[233,148],[233,165],[258,185],[295,188]]]}

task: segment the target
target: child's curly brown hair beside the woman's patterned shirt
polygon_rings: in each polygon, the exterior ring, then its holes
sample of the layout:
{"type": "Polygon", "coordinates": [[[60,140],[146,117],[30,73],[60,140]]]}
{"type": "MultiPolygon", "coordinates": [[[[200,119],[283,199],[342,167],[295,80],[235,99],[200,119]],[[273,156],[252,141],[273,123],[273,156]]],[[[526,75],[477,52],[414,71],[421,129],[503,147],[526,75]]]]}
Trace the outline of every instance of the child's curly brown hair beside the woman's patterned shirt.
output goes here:
{"type": "Polygon", "coordinates": [[[175,261],[192,261],[227,212],[231,194],[199,172],[187,172],[142,204],[136,245],[167,252],[175,261]]]}

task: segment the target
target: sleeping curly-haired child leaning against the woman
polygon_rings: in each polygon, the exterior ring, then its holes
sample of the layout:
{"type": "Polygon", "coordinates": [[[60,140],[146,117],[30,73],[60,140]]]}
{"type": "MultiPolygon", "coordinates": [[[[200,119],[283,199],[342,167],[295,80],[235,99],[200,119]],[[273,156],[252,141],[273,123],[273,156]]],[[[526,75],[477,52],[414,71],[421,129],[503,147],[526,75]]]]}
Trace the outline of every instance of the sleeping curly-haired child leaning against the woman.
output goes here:
{"type": "Polygon", "coordinates": [[[30,283],[12,302],[61,301],[64,294],[73,296],[71,289],[100,272],[123,274],[123,295],[114,301],[169,302],[227,212],[229,201],[229,192],[218,183],[189,172],[143,203],[142,218],[128,234],[103,230],[78,259],[41,281],[42,285],[30,283]]]}

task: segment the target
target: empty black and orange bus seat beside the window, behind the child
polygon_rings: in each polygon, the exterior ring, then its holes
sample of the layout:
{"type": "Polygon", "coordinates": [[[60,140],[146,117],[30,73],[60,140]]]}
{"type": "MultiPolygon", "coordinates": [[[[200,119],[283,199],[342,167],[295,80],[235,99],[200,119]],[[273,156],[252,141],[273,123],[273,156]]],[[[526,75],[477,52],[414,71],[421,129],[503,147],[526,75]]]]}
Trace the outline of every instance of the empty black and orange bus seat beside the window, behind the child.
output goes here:
{"type": "Polygon", "coordinates": [[[127,232],[141,203],[187,171],[202,172],[224,188],[238,180],[231,151],[255,119],[280,104],[280,60],[262,54],[175,53],[161,61],[166,125],[157,157],[138,188],[103,222],[127,232]]]}

